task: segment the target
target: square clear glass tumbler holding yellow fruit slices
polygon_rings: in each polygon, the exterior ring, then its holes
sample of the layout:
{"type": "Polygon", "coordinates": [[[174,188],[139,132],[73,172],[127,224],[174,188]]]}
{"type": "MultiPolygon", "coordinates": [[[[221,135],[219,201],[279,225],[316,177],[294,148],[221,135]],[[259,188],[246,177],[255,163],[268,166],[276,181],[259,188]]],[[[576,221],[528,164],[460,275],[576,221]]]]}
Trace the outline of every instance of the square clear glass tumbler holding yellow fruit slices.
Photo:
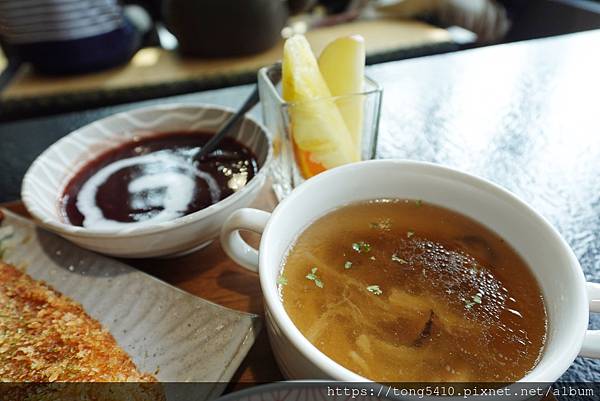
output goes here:
{"type": "Polygon", "coordinates": [[[273,189],[279,200],[328,168],[375,157],[379,84],[365,76],[362,92],[289,103],[282,98],[280,77],[281,63],[258,72],[263,121],[273,141],[273,189]],[[321,141],[325,135],[337,142],[321,141]]]}

